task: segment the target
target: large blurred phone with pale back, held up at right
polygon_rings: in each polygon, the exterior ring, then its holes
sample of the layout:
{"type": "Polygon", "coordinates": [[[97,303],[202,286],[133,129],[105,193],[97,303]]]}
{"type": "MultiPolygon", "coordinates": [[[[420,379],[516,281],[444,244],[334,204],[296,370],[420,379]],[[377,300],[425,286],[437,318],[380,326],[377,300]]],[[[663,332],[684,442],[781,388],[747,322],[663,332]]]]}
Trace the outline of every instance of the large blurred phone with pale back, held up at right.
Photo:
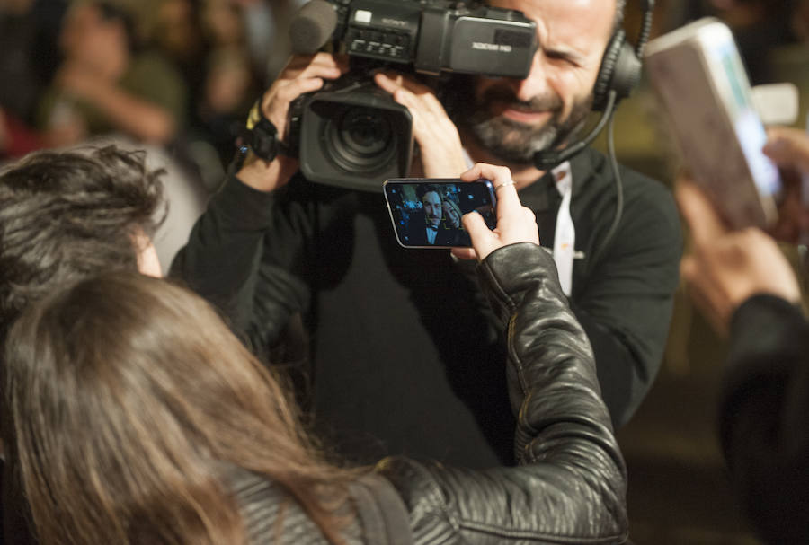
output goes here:
{"type": "Polygon", "coordinates": [[[664,34],[645,64],[683,162],[720,215],[736,229],[774,224],[783,183],[761,151],[767,134],[727,25],[707,17],[664,34]]]}

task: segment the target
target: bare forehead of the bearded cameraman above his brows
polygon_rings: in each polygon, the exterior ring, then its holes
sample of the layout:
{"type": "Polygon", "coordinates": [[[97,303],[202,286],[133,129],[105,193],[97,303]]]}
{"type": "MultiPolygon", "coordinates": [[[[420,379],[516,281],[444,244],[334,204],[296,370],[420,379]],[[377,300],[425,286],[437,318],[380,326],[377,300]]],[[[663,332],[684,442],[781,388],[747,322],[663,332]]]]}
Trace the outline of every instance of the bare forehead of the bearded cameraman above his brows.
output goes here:
{"type": "Polygon", "coordinates": [[[525,13],[537,22],[543,47],[573,48],[600,54],[612,33],[616,0],[489,0],[489,4],[525,13]]]}

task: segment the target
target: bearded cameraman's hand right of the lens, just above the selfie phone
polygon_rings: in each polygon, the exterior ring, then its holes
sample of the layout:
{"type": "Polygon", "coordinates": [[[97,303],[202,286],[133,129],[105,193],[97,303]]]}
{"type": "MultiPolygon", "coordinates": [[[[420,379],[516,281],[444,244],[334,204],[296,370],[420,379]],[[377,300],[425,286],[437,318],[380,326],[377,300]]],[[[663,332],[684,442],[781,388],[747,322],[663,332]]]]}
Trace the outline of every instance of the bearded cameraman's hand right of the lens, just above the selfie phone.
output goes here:
{"type": "Polygon", "coordinates": [[[424,177],[456,178],[459,172],[467,170],[458,127],[430,87],[395,73],[378,73],[374,81],[410,110],[424,177]]]}

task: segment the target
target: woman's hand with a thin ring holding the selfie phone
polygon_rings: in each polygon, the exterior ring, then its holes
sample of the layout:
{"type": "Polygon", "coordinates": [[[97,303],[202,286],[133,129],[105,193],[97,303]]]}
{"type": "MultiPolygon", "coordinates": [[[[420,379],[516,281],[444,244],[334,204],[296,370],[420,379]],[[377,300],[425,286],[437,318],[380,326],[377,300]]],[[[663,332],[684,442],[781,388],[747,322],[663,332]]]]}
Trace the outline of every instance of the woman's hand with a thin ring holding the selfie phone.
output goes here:
{"type": "Polygon", "coordinates": [[[539,244],[537,218],[530,208],[520,204],[517,188],[511,180],[511,171],[504,166],[477,163],[461,174],[461,180],[474,181],[481,178],[492,180],[497,206],[497,227],[490,231],[483,216],[471,212],[464,215],[463,223],[472,239],[474,251],[468,248],[453,248],[452,253],[460,259],[486,259],[493,251],[517,242],[539,244]]]}

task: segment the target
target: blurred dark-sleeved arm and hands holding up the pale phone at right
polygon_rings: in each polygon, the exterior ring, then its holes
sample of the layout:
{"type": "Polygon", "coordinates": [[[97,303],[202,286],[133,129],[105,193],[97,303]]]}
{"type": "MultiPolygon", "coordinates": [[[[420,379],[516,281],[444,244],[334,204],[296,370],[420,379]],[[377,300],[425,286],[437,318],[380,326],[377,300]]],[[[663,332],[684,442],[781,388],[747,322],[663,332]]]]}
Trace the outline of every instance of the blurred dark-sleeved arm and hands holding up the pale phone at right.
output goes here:
{"type": "MultiPolygon", "coordinates": [[[[809,174],[809,136],[772,129],[765,153],[790,178],[809,174]]],[[[678,201],[693,239],[683,259],[689,294],[730,351],[719,407],[720,442],[733,485],[768,543],[809,536],[809,321],[801,288],[776,241],[730,231],[709,199],[683,181],[678,201]]],[[[778,233],[792,241],[809,212],[790,191],[778,233]]]]}

